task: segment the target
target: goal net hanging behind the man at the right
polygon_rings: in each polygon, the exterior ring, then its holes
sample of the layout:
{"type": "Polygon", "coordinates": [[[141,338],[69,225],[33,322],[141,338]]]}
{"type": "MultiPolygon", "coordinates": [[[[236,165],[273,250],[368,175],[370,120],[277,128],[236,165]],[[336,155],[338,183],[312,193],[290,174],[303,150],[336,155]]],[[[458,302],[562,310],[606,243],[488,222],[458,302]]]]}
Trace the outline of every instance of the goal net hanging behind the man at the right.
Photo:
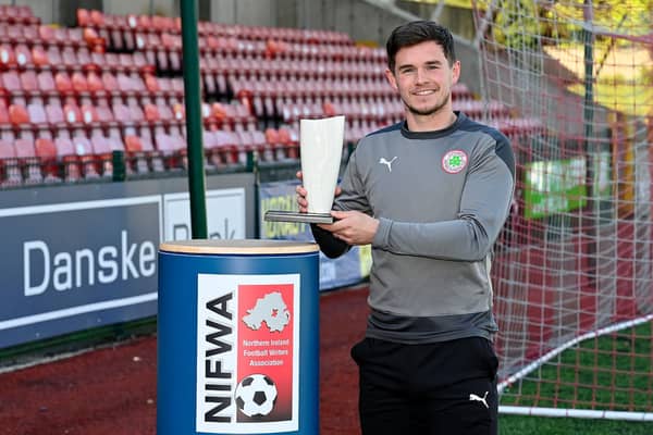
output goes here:
{"type": "Polygon", "coordinates": [[[653,421],[652,11],[473,4],[485,116],[517,161],[492,271],[503,412],[653,421]]]}

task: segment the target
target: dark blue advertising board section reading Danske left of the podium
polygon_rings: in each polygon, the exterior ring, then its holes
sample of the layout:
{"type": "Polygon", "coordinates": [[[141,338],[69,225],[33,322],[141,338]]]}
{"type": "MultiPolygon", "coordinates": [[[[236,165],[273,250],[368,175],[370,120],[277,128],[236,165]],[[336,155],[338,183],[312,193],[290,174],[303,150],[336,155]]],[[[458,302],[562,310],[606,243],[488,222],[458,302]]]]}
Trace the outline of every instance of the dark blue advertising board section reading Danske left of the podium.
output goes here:
{"type": "Polygon", "coordinates": [[[0,210],[0,348],[153,315],[161,222],[159,195],[0,210]]]}

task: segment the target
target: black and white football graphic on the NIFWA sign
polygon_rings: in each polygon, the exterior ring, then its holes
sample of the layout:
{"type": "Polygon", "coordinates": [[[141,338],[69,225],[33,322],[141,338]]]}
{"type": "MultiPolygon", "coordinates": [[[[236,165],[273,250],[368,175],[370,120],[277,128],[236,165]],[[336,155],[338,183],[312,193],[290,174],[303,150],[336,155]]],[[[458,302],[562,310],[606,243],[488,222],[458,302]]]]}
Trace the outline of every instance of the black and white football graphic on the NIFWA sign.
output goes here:
{"type": "Polygon", "coordinates": [[[236,387],[236,406],[247,417],[264,417],[276,403],[276,385],[264,374],[245,376],[236,387]]]}

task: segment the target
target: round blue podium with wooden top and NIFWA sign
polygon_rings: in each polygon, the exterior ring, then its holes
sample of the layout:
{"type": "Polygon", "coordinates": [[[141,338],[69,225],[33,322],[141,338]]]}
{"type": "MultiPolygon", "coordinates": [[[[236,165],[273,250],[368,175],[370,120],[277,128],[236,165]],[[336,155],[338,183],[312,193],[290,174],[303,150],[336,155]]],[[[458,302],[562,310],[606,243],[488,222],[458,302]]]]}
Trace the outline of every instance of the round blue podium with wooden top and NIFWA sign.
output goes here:
{"type": "Polygon", "coordinates": [[[160,245],[158,435],[319,433],[318,249],[160,245]]]}

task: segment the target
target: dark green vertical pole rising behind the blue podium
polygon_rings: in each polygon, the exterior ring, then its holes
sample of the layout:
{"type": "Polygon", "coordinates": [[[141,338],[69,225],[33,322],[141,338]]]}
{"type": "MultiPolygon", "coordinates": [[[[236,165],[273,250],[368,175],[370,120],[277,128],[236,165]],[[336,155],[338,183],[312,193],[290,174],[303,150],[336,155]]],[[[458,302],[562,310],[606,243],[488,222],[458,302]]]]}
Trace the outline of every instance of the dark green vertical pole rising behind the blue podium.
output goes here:
{"type": "Polygon", "coordinates": [[[197,46],[197,0],[180,1],[182,15],[182,55],[184,104],[186,107],[186,149],[188,151],[188,192],[193,238],[207,238],[204,145],[201,141],[201,91],[197,46]]]}

